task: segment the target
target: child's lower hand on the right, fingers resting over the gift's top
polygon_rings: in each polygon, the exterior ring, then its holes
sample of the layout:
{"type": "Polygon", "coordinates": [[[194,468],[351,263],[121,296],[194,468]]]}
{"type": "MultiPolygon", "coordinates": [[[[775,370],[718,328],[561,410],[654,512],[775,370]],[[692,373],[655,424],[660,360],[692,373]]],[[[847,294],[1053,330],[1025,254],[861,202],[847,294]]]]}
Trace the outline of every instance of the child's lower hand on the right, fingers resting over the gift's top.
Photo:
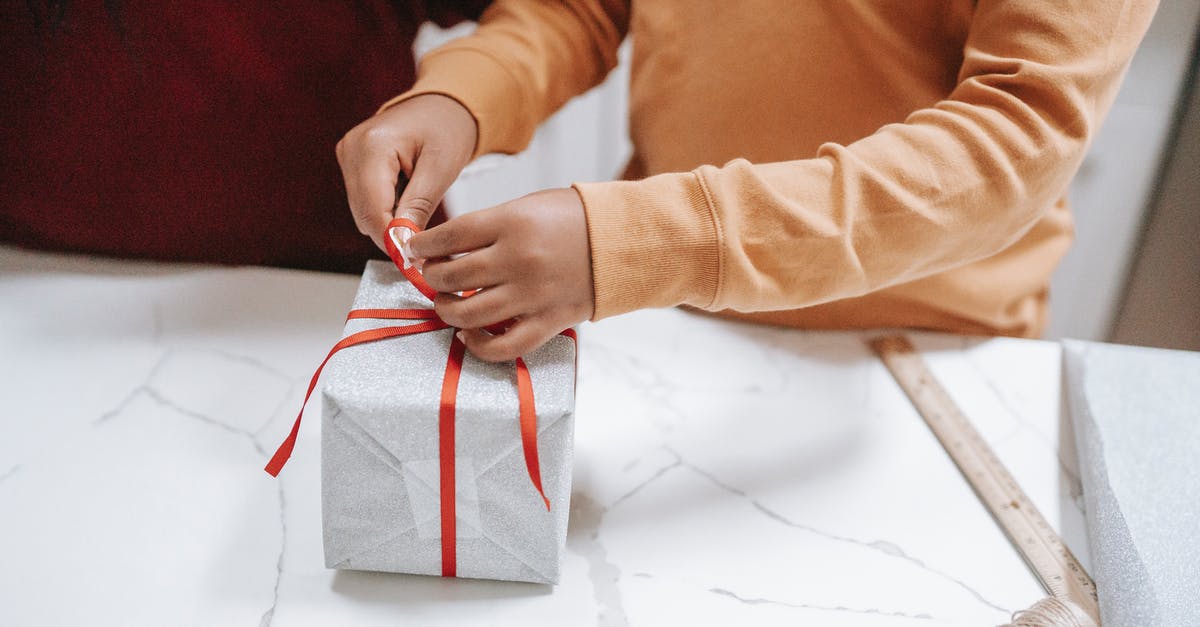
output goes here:
{"type": "Polygon", "coordinates": [[[487,362],[514,359],[592,317],[592,255],[575,190],[530,193],[413,235],[434,309],[487,362]],[[468,252],[458,258],[450,255],[468,252]],[[452,292],[482,288],[462,298],[452,292]],[[484,327],[516,318],[500,335],[484,327]]]}

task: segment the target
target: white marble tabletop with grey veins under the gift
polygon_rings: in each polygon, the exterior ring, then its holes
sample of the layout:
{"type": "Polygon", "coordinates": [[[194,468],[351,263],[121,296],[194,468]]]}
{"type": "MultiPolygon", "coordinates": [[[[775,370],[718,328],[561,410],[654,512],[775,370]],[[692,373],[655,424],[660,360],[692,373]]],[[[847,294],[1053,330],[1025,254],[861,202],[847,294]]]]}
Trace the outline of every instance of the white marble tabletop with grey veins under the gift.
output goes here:
{"type": "MultiPolygon", "coordinates": [[[[1043,596],[860,335],[674,310],[581,330],[559,586],[328,571],[319,420],[260,468],[355,286],[0,247],[0,625],[995,625],[1043,596]]],[[[914,339],[1086,562],[1057,345],[914,339]]]]}

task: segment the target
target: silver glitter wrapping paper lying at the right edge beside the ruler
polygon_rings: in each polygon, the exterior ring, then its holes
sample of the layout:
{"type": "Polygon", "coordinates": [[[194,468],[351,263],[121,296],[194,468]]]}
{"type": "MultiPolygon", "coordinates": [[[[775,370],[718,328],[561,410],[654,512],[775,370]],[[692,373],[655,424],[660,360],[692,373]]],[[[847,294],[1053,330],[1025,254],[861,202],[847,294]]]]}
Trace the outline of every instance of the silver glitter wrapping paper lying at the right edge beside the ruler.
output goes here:
{"type": "Polygon", "coordinates": [[[1200,625],[1200,353],[1063,342],[1105,627],[1200,625]]]}

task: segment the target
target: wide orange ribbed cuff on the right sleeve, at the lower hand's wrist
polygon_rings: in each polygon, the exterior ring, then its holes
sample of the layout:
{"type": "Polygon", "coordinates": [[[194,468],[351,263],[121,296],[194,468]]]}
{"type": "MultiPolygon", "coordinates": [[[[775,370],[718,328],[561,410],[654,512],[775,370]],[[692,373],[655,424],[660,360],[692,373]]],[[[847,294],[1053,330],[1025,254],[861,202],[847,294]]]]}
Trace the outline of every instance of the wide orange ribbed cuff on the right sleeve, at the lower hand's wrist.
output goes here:
{"type": "Polygon", "coordinates": [[[647,307],[709,307],[720,288],[720,243],[696,174],[575,184],[592,246],[595,314],[647,307]]]}

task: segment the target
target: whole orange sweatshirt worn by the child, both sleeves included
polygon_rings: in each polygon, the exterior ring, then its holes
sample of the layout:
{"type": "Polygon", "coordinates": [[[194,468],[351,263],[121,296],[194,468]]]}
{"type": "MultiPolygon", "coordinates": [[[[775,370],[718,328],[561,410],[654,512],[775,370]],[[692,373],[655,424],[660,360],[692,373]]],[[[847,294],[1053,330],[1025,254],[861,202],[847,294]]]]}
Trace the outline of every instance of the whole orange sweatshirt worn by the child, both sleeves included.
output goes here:
{"type": "Polygon", "coordinates": [[[577,184],[595,318],[1034,336],[1154,0],[498,0],[418,94],[523,149],[632,37],[632,180],[577,184]]]}

